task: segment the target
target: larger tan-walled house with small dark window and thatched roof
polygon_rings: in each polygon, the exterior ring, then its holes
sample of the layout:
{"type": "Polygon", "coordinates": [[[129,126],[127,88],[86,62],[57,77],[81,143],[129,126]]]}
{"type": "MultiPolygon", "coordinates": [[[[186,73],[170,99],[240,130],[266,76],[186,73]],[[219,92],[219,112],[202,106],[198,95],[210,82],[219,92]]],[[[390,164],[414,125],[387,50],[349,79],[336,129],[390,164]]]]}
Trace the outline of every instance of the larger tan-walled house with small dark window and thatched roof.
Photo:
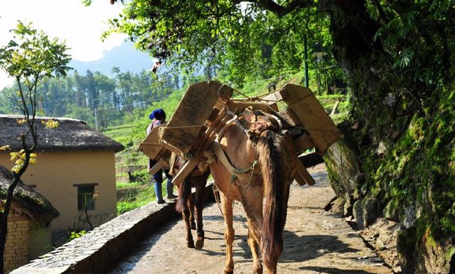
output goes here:
{"type": "MultiPolygon", "coordinates": [[[[9,152],[21,150],[18,136],[26,133],[18,119],[0,114],[0,146],[11,146],[0,151],[0,165],[6,168],[14,164],[9,152]]],[[[21,179],[60,212],[51,228],[87,229],[116,217],[114,153],[124,146],[76,119],[36,117],[36,125],[38,163],[29,165],[21,179]],[[42,122],[48,119],[59,126],[45,129],[42,122]]]]}

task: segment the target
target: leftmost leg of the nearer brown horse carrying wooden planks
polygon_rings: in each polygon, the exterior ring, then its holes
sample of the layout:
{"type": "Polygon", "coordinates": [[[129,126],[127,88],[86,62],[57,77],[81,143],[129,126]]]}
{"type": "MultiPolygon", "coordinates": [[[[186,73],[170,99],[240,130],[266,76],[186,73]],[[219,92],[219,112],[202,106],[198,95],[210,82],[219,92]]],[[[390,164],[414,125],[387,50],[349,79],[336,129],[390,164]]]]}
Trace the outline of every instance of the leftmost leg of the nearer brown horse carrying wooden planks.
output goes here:
{"type": "Polygon", "coordinates": [[[234,273],[234,260],[232,258],[232,242],[234,241],[234,228],[232,227],[232,199],[220,192],[220,199],[225,217],[226,261],[224,274],[234,273]]]}

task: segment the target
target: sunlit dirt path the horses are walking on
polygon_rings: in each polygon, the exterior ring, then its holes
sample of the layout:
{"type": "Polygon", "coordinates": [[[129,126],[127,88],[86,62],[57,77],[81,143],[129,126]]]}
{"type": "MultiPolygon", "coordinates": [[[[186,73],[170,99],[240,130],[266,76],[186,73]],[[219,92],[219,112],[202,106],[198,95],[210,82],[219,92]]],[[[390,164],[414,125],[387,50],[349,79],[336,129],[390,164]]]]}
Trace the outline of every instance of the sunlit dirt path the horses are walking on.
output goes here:
{"type": "MultiPolygon", "coordinates": [[[[284,251],[279,258],[278,273],[391,274],[380,258],[365,246],[357,231],[341,217],[324,210],[335,196],[328,185],[324,165],[309,171],[316,179],[316,185],[291,186],[284,251]]],[[[241,204],[235,204],[234,214],[234,273],[252,273],[241,204]]],[[[210,204],[204,210],[206,239],[203,250],[186,248],[183,226],[183,221],[168,224],[161,234],[141,242],[136,251],[125,256],[109,274],[223,273],[224,223],[217,205],[210,204]]]]}

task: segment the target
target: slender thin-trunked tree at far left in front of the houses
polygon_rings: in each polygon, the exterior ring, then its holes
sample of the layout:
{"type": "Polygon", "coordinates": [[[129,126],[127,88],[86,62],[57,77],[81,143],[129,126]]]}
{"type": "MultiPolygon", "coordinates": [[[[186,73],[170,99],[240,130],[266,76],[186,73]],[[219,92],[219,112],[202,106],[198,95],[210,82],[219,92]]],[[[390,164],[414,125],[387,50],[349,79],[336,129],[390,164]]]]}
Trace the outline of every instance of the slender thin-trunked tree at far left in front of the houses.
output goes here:
{"type": "MultiPolygon", "coordinates": [[[[12,168],[14,178],[6,192],[6,199],[1,201],[0,212],[0,274],[4,273],[4,248],[8,232],[8,216],[11,202],[21,176],[28,165],[36,162],[33,153],[38,144],[38,132],[35,124],[37,112],[36,91],[38,83],[49,77],[65,76],[69,69],[66,65],[70,61],[65,53],[65,43],[57,38],[50,39],[43,31],[36,31],[31,24],[18,21],[16,29],[12,30],[14,40],[0,48],[0,67],[8,75],[16,79],[18,91],[16,93],[18,108],[21,109],[23,119],[18,123],[26,126],[26,133],[18,136],[22,150],[11,152],[11,160],[16,161],[12,168]]],[[[55,121],[46,122],[46,128],[57,126],[55,121]]],[[[2,146],[6,150],[9,146],[2,146]]]]}

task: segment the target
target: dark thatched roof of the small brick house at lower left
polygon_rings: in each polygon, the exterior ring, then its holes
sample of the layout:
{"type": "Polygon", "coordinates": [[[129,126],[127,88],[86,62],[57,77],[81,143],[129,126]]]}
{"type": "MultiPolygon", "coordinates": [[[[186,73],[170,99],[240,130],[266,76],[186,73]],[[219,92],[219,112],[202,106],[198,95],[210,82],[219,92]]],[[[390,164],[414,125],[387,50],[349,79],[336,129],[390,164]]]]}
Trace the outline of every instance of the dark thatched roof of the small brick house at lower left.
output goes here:
{"type": "MultiPolygon", "coordinates": [[[[6,190],[8,190],[13,173],[0,165],[0,197],[6,199],[6,190]]],[[[24,209],[24,212],[33,219],[54,219],[59,213],[45,197],[30,187],[27,187],[22,181],[19,181],[14,190],[13,204],[24,209]]]]}

